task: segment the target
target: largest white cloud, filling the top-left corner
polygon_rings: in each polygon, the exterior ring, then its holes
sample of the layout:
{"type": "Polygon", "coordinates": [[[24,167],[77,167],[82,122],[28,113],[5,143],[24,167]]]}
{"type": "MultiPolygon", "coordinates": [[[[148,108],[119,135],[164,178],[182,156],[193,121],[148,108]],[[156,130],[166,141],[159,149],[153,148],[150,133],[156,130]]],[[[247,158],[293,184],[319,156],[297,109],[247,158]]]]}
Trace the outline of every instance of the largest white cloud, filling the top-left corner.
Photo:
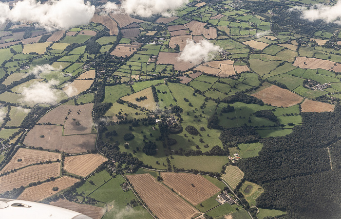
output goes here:
{"type": "Polygon", "coordinates": [[[94,13],[95,6],[83,0],[50,0],[43,4],[22,0],[14,3],[12,9],[8,3],[0,2],[1,23],[6,20],[37,23],[49,31],[87,24],[94,13]]]}

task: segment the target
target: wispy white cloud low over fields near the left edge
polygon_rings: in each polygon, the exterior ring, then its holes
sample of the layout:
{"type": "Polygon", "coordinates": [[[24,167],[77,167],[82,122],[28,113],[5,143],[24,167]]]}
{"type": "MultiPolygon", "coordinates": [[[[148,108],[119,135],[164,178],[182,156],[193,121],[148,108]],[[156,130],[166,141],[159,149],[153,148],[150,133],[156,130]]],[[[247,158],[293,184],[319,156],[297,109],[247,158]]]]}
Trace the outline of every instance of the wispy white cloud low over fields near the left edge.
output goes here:
{"type": "MultiPolygon", "coordinates": [[[[61,90],[55,89],[53,86],[59,82],[51,80],[47,83],[36,82],[31,84],[29,87],[23,87],[21,94],[22,99],[20,101],[30,103],[49,103],[56,104],[57,100],[62,95],[61,90]]],[[[64,94],[65,95],[65,94],[64,94]]]]}

